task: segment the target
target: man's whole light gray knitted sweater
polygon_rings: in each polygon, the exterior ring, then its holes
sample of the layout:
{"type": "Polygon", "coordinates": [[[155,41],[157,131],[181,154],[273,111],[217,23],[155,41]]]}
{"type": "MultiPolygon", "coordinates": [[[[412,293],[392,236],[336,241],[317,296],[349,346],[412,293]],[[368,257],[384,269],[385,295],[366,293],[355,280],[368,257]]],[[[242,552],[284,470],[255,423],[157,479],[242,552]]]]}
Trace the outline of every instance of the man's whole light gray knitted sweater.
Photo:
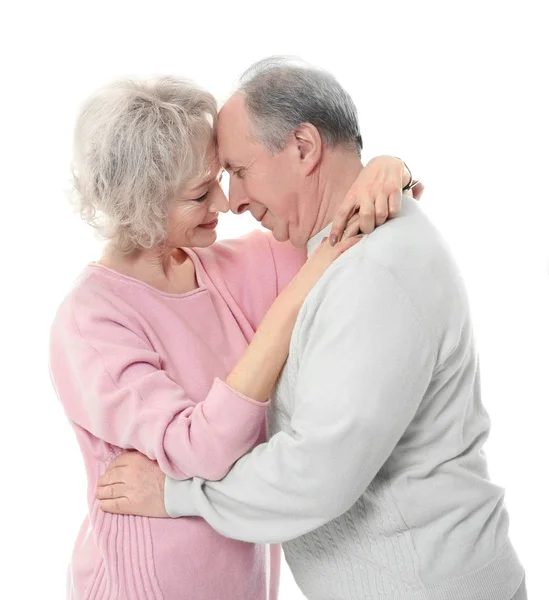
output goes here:
{"type": "Polygon", "coordinates": [[[168,513],[285,542],[310,600],[508,600],[519,587],[482,451],[465,287],[413,200],[307,298],[269,429],[220,482],[168,478],[168,513]]]}

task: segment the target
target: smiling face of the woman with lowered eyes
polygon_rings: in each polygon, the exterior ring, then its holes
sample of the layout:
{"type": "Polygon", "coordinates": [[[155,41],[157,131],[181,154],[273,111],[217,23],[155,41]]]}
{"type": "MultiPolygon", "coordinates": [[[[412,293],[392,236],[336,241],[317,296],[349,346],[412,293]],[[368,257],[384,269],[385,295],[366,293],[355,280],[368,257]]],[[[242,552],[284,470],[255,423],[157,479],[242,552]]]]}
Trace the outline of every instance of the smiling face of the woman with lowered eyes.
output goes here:
{"type": "Polygon", "coordinates": [[[183,186],[168,212],[168,246],[205,248],[216,240],[217,217],[229,210],[221,189],[221,165],[212,144],[210,174],[192,186],[183,186]]]}

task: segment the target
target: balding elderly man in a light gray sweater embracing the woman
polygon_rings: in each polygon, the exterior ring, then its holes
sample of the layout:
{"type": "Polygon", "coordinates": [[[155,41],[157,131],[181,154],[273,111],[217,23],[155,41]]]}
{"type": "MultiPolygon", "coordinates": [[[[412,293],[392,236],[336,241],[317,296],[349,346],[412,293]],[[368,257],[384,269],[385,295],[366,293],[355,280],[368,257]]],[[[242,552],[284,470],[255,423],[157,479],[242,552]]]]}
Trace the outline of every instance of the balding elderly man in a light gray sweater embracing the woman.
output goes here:
{"type": "MultiPolygon", "coordinates": [[[[232,210],[314,251],[361,168],[337,81],[262,61],[222,109],[218,141],[232,210]]],[[[405,197],[309,295],[268,443],[222,481],[167,478],[165,490],[155,463],[125,454],[98,497],[110,512],[201,516],[228,537],[283,542],[309,599],[523,600],[488,430],[462,279],[405,197]]]]}

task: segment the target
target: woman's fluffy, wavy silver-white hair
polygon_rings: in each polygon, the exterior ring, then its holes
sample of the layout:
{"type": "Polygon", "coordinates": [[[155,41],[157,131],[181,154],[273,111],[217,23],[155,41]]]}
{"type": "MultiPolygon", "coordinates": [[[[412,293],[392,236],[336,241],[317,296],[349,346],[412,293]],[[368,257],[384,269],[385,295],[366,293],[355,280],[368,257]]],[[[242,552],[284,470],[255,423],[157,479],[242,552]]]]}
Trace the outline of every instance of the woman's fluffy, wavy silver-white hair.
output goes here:
{"type": "Polygon", "coordinates": [[[217,104],[173,77],[120,80],[82,107],[74,135],[74,200],[82,218],[121,252],[166,237],[170,201],[203,177],[217,104]]]}

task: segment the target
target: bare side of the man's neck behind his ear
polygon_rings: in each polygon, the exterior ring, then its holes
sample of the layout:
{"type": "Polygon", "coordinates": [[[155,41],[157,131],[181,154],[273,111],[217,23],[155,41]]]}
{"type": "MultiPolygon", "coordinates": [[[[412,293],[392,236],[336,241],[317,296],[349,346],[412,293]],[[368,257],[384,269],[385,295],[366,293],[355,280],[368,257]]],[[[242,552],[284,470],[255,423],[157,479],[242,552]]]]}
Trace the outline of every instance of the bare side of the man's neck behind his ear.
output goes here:
{"type": "Polygon", "coordinates": [[[320,203],[309,239],[334,220],[345,194],[362,170],[362,163],[356,153],[335,150],[327,153],[320,168],[318,187],[320,203]]]}

